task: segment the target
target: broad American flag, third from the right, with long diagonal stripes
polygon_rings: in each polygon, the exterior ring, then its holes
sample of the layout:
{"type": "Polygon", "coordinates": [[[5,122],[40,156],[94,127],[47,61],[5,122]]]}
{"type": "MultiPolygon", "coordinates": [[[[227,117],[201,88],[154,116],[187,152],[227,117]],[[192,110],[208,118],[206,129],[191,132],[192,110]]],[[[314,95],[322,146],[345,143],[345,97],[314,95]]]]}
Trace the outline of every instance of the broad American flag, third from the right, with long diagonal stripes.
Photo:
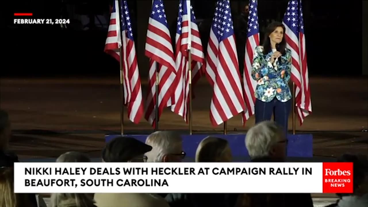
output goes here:
{"type": "Polygon", "coordinates": [[[210,120],[217,126],[244,111],[229,0],[218,0],[206,55],[206,76],[213,87],[210,120]]]}

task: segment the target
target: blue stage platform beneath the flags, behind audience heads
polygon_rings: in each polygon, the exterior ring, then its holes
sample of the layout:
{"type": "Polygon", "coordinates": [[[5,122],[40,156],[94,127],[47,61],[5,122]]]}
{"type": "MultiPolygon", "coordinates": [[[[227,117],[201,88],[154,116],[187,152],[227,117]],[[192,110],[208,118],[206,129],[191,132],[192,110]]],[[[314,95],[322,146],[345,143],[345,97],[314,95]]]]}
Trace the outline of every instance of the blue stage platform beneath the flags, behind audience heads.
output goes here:
{"type": "MultiPolygon", "coordinates": [[[[237,159],[238,161],[246,161],[249,158],[247,148],[245,148],[245,134],[194,134],[194,135],[183,135],[183,151],[187,154],[187,157],[194,158],[195,151],[197,150],[199,142],[205,137],[213,135],[221,137],[229,141],[233,157],[240,157],[244,159],[237,159]]],[[[120,135],[106,135],[106,142],[112,138],[120,135]]],[[[146,134],[127,134],[125,136],[134,137],[142,142],[146,141],[148,135],[146,134]]],[[[288,157],[313,157],[313,136],[312,134],[289,134],[287,136],[289,144],[287,146],[288,157]]],[[[192,160],[191,159],[191,160],[192,160]]],[[[189,160],[187,160],[189,161],[189,160]]]]}

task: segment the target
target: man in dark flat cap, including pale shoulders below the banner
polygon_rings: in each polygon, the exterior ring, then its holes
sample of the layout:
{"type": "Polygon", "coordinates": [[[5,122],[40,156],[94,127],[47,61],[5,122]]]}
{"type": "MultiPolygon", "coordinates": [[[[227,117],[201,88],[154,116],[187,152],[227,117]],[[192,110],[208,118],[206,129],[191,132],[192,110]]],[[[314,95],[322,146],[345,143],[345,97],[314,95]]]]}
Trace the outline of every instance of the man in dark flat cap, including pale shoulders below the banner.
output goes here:
{"type": "MultiPolygon", "coordinates": [[[[132,137],[119,136],[102,150],[103,162],[146,162],[146,152],[152,150],[132,137]]],[[[144,165],[144,164],[142,164],[144,165]]],[[[169,207],[160,196],[151,193],[95,193],[97,207],[169,207]]]]}

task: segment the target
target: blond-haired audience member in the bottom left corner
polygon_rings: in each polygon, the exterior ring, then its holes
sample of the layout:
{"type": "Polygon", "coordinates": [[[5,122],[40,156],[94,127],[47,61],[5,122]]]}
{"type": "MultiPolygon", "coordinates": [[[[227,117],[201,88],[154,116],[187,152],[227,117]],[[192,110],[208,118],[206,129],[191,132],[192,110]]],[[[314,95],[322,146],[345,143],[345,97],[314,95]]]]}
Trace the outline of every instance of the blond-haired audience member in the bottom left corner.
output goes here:
{"type": "Polygon", "coordinates": [[[0,206],[32,206],[31,198],[28,193],[14,193],[13,168],[0,168],[0,195],[0,206]]]}

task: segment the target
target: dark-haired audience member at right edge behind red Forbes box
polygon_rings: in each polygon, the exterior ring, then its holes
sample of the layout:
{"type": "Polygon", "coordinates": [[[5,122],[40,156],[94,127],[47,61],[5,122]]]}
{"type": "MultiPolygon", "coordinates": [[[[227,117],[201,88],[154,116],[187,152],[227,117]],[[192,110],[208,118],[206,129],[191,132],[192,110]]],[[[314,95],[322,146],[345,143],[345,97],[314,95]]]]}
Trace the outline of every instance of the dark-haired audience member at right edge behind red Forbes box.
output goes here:
{"type": "MultiPolygon", "coordinates": [[[[365,155],[344,154],[337,162],[353,162],[353,189],[354,195],[368,194],[368,159],[365,155]]],[[[350,194],[338,194],[349,196],[350,194]]]]}

